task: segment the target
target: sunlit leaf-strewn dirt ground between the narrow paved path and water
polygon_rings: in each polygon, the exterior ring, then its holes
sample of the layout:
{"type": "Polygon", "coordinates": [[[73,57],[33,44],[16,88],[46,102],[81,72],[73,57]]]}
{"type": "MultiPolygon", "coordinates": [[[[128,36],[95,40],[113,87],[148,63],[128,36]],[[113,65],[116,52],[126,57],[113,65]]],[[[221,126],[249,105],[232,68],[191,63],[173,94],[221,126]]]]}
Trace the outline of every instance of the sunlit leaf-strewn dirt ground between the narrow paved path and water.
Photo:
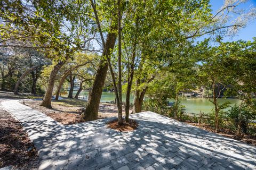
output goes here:
{"type": "MultiPolygon", "coordinates": [[[[52,100],[52,108],[39,106],[42,100],[22,100],[21,103],[43,112],[62,124],[84,122],[81,117],[81,108],[86,107],[86,101],[79,99],[63,98],[59,101],[52,100]]],[[[124,110],[123,110],[124,112],[124,110]]],[[[101,103],[98,118],[117,116],[117,107],[113,104],[101,103]]]]}

